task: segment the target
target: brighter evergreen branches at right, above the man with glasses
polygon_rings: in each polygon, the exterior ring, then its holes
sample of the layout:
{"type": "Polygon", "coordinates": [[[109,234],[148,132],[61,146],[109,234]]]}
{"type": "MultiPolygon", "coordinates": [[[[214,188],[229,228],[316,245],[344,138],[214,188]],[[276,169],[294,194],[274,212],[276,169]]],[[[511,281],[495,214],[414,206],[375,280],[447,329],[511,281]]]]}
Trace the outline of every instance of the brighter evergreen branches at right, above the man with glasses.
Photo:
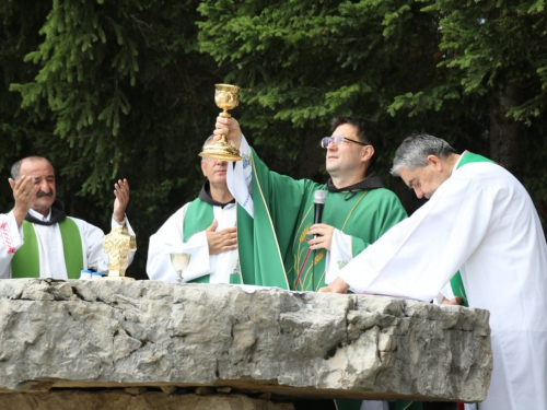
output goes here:
{"type": "MultiPolygon", "coordinates": [[[[242,122],[257,143],[303,152],[331,116],[366,116],[386,133],[384,172],[403,138],[423,130],[502,163],[539,200],[544,8],[544,0],[205,0],[199,38],[232,69],[229,81],[248,86],[242,122]]],[[[288,168],[310,175],[289,160],[288,168]]]]}

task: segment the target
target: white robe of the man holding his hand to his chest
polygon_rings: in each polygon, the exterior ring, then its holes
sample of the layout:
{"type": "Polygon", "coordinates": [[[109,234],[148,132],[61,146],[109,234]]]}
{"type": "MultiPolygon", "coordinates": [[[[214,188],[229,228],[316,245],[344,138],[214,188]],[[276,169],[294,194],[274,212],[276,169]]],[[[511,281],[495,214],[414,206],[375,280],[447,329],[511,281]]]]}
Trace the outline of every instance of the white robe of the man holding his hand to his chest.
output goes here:
{"type": "MultiPolygon", "coordinates": [[[[183,242],[184,220],[190,203],[186,203],[175,212],[150,237],[147,261],[148,277],[152,280],[176,282],[177,273],[171,265],[171,254],[184,253],[190,254],[188,268],[183,273],[184,281],[210,274],[209,283],[230,283],[230,273],[233,272],[237,259],[237,249],[209,255],[209,244],[205,231],[191,235],[188,242],[183,242]]],[[[219,223],[217,231],[235,226],[235,203],[229,203],[224,208],[212,207],[212,209],[214,219],[219,223]]]]}

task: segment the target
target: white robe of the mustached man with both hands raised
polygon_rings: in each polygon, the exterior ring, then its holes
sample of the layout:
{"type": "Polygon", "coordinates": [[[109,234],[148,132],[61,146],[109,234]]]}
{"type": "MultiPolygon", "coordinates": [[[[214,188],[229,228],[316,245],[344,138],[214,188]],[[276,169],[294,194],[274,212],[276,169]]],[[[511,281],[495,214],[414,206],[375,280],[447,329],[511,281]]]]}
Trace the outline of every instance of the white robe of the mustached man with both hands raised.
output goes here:
{"type": "MultiPolygon", "coordinates": [[[[30,213],[44,221],[49,221],[48,216],[34,212],[30,213]]],[[[93,269],[97,272],[108,271],[108,255],[103,253],[104,233],[98,227],[78,218],[71,218],[80,231],[82,239],[82,255],[84,256],[83,269],[93,269]]],[[[129,234],[135,235],[127,218],[124,220],[129,234]]],[[[119,224],[112,219],[112,227],[119,224]]],[[[67,267],[65,266],[65,251],[62,248],[62,237],[59,224],[49,226],[33,224],[38,244],[40,278],[68,279],[67,267]]],[[[18,222],[13,212],[7,215],[0,214],[0,279],[11,278],[11,259],[16,250],[24,244],[23,225],[18,227],[18,222]]],[[[132,261],[135,251],[129,255],[129,262],[132,261]]]]}

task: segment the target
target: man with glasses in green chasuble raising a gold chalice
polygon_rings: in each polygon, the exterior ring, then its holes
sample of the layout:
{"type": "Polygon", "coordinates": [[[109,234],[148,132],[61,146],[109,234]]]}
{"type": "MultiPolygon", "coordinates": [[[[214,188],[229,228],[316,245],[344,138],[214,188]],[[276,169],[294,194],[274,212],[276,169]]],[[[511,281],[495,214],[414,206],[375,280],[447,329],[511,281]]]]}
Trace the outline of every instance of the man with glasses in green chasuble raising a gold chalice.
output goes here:
{"type": "MultiPolygon", "coordinates": [[[[228,168],[226,180],[241,206],[237,229],[245,283],[317,291],[407,216],[398,198],[371,172],[383,148],[376,127],[363,118],[338,117],[331,128],[331,137],[317,139],[326,150],[330,177],[326,184],[316,184],[268,169],[249,148],[238,122],[217,118],[214,134],[226,134],[243,156],[228,168]],[[321,223],[314,223],[317,191],[326,198],[321,223]]],[[[360,409],[361,401],[337,400],[337,407],[360,409]]],[[[389,407],[421,408],[401,401],[389,407]]]]}

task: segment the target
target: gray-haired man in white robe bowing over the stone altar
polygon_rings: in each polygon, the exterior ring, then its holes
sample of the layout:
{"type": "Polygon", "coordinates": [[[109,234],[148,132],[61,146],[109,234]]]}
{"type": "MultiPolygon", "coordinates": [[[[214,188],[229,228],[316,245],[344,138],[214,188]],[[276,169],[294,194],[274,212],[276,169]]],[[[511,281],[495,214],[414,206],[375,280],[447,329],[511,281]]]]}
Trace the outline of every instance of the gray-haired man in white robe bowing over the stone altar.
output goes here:
{"type": "Polygon", "coordinates": [[[490,311],[480,410],[547,409],[547,246],[528,194],[502,166],[428,134],[403,142],[392,174],[430,200],[322,291],[431,301],[459,270],[469,306],[490,311]]]}

